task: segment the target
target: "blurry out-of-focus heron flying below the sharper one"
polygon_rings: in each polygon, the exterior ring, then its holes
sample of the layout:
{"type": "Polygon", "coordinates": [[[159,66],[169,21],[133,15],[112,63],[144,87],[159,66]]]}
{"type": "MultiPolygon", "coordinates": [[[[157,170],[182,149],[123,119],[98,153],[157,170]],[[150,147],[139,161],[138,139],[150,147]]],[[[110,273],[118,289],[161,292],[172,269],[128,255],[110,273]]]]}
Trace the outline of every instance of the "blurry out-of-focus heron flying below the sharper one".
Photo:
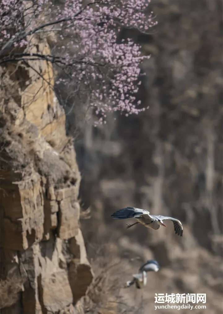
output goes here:
{"type": "Polygon", "coordinates": [[[125,288],[130,287],[132,284],[136,285],[136,288],[142,289],[147,283],[146,273],[149,271],[157,272],[160,269],[160,265],[156,260],[149,260],[139,268],[139,273],[133,275],[133,280],[127,281],[125,288]]]}

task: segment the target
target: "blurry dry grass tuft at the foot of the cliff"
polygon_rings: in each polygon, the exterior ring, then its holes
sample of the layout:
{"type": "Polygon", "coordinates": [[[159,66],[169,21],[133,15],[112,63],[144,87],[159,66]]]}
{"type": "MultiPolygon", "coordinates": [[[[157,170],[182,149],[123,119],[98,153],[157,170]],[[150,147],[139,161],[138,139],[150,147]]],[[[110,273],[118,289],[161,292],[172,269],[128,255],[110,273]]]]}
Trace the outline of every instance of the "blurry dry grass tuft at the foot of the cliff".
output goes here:
{"type": "Polygon", "coordinates": [[[95,278],[81,300],[82,311],[78,311],[78,314],[140,313],[139,307],[130,307],[122,296],[124,283],[120,269],[121,261],[119,259],[111,261],[106,250],[99,249],[100,254],[96,251],[95,255],[100,257],[91,261],[95,278]]]}

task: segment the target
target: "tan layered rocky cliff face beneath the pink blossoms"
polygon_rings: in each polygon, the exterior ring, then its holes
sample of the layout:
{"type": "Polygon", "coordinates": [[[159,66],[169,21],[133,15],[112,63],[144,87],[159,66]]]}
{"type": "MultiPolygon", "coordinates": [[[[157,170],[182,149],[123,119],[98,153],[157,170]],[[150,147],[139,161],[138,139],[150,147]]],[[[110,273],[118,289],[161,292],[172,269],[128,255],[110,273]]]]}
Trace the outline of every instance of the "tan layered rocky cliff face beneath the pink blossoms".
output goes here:
{"type": "Polygon", "coordinates": [[[75,313],[93,273],[79,229],[73,142],[46,82],[53,85],[52,68],[1,71],[1,313],[75,313]]]}

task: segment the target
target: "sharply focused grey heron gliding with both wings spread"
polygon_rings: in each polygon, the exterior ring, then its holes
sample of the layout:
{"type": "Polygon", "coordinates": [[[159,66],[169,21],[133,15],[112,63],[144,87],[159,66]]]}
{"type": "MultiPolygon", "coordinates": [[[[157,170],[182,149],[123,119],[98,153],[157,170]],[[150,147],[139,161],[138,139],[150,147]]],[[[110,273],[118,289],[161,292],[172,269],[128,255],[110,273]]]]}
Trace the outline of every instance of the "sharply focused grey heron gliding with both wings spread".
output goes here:
{"type": "Polygon", "coordinates": [[[126,207],[118,210],[114,214],[111,215],[114,219],[128,219],[128,218],[136,218],[138,221],[134,224],[127,224],[127,229],[136,225],[138,223],[144,225],[147,228],[151,229],[159,229],[160,226],[166,227],[164,225],[163,220],[171,220],[174,225],[175,234],[178,236],[183,236],[183,227],[180,220],[172,218],[172,217],[165,217],[161,215],[150,215],[150,212],[145,209],[135,208],[135,207],[126,207]]]}

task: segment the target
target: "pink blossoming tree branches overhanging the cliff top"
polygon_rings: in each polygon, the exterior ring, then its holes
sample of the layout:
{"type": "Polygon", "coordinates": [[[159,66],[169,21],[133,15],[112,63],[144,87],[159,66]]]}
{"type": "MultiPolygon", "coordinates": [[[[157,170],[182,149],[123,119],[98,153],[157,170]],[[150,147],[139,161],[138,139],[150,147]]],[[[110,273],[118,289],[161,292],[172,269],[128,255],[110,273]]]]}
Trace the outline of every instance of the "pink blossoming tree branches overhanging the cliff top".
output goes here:
{"type": "MultiPolygon", "coordinates": [[[[89,104],[106,122],[107,112],[138,114],[140,46],[119,41],[121,28],[148,33],[156,24],[150,0],[2,0],[0,3],[0,65],[45,60],[64,76],[57,83],[89,92],[89,104]],[[54,34],[50,54],[33,53],[32,38],[54,34]]],[[[38,73],[41,76],[41,73],[38,73]]],[[[97,123],[98,123],[97,122],[97,123]]]]}

